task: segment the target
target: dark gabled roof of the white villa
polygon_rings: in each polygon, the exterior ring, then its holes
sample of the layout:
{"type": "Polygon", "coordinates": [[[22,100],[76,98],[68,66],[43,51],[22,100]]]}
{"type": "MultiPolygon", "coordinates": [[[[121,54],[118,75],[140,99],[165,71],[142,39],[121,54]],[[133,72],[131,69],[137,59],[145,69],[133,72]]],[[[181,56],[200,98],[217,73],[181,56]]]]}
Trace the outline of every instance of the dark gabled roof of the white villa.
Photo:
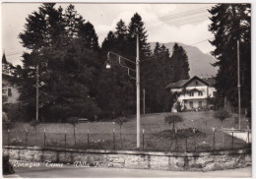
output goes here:
{"type": "Polygon", "coordinates": [[[213,87],[216,83],[216,80],[214,78],[200,79],[197,76],[194,76],[193,78],[191,78],[189,80],[180,80],[180,81],[175,82],[175,83],[170,83],[169,85],[167,85],[167,87],[165,87],[165,89],[181,89],[181,88],[185,87],[189,82],[191,82],[194,79],[197,79],[197,80],[201,81],[202,83],[204,83],[204,84],[206,84],[207,86],[210,86],[210,87],[213,87]]]}

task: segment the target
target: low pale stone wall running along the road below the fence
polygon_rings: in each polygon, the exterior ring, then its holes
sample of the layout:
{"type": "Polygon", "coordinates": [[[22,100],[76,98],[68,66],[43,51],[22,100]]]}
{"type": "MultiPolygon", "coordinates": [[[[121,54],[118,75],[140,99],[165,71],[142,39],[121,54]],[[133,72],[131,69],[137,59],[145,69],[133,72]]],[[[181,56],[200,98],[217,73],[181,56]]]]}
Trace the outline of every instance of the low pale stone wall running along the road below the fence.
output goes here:
{"type": "Polygon", "coordinates": [[[110,149],[3,147],[10,159],[88,164],[103,167],[211,171],[251,165],[251,149],[212,152],[157,152],[110,149]]]}

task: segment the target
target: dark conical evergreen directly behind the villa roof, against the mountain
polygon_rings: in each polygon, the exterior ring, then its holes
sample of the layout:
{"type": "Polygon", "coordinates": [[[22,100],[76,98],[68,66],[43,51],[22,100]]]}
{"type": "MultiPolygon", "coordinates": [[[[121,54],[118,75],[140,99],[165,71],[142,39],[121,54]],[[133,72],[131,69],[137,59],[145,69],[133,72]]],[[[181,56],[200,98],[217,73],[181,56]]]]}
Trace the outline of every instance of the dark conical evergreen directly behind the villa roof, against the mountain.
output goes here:
{"type": "Polygon", "coordinates": [[[185,50],[177,43],[174,44],[171,55],[173,82],[189,79],[189,62],[185,50]]]}

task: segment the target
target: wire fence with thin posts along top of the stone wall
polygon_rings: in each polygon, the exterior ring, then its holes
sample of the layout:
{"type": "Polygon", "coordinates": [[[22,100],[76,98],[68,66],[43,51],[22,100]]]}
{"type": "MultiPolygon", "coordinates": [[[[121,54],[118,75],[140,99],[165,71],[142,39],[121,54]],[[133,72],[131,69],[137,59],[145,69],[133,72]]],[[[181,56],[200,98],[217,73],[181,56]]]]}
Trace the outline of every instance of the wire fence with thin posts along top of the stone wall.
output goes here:
{"type": "MultiPolygon", "coordinates": [[[[211,151],[249,149],[249,132],[246,141],[234,137],[233,132],[167,130],[161,133],[141,133],[141,149],[151,151],[211,151]]],[[[136,148],[136,134],[112,133],[49,133],[35,131],[4,131],[3,146],[52,147],[63,149],[125,149],[136,148]]]]}

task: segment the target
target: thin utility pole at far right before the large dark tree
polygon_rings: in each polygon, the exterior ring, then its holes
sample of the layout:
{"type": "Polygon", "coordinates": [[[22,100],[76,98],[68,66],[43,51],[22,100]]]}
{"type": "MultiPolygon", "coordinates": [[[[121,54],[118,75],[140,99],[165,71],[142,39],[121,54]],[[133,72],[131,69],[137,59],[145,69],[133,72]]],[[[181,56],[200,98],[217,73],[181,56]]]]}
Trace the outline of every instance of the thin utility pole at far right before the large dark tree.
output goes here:
{"type": "Polygon", "coordinates": [[[241,94],[240,94],[240,54],[239,54],[239,40],[237,39],[237,89],[238,89],[238,119],[239,130],[241,130],[241,94]]]}

